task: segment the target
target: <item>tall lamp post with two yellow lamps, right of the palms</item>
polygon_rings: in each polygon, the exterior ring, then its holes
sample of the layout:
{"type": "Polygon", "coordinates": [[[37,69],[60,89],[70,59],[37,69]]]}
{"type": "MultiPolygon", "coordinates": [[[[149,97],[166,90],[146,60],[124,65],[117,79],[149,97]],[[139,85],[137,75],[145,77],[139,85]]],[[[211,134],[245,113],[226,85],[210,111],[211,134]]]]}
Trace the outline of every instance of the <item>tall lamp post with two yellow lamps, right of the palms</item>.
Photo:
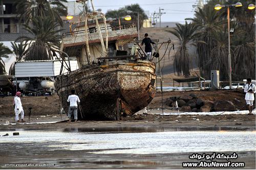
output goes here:
{"type": "Polygon", "coordinates": [[[243,5],[241,3],[231,4],[231,5],[215,5],[214,9],[220,10],[223,7],[227,7],[227,29],[228,29],[228,76],[229,76],[229,88],[232,88],[232,79],[231,79],[231,54],[230,54],[230,24],[229,24],[229,7],[242,7],[243,5]]]}

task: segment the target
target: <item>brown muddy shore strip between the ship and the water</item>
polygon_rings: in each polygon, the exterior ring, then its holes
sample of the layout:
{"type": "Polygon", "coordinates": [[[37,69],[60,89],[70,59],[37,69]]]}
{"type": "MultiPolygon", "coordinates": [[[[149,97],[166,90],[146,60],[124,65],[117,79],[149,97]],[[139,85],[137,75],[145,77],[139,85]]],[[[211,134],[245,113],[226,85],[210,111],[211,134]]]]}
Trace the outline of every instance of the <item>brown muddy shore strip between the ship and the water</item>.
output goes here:
{"type": "MultiPolygon", "coordinates": [[[[247,114],[229,114],[229,115],[159,115],[159,114],[138,114],[131,117],[124,117],[119,121],[78,121],[77,123],[68,123],[66,115],[46,116],[41,118],[32,116],[31,122],[58,122],[52,124],[16,124],[16,125],[0,125],[0,131],[15,130],[22,128],[24,130],[41,130],[41,129],[63,129],[63,128],[108,128],[108,127],[231,127],[231,128],[249,128],[255,130],[255,115],[247,114]],[[56,117],[55,117],[56,116],[56,117]],[[38,118],[38,119],[36,119],[38,118]],[[199,121],[197,121],[199,119],[199,121]]],[[[28,116],[24,118],[28,120],[28,116]]],[[[11,116],[1,116],[0,124],[14,122],[11,116]]]]}

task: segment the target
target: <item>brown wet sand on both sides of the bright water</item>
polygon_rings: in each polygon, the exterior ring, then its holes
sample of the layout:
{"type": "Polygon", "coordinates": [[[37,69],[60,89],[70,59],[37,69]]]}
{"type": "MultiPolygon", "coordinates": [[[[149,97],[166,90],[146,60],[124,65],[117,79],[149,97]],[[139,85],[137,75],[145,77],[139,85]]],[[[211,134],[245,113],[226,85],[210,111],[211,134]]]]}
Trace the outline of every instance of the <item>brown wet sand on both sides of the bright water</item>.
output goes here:
{"type": "MultiPolygon", "coordinates": [[[[66,115],[56,117],[39,115],[32,116],[31,122],[57,122],[50,124],[16,124],[0,125],[0,135],[3,131],[76,131],[76,132],[158,132],[158,131],[253,131],[255,132],[255,115],[152,115],[138,114],[123,118],[120,121],[82,121],[68,123],[66,115]],[[38,118],[38,119],[36,119],[38,118]],[[196,119],[199,119],[197,121],[196,119]]],[[[27,120],[28,117],[25,117],[27,120]]],[[[0,123],[13,120],[11,116],[1,116],[0,123]]],[[[189,133],[189,132],[188,132],[189,133]]],[[[12,135],[12,134],[10,134],[12,135]]],[[[3,136],[1,137],[4,138],[3,136]]],[[[129,141],[127,141],[129,142],[129,141]]],[[[2,143],[4,150],[0,151],[0,168],[183,168],[182,162],[193,162],[188,156],[192,153],[168,154],[93,154],[91,150],[47,150],[38,142],[2,143]],[[53,163],[54,166],[5,166],[10,163],[53,163]]],[[[95,151],[95,150],[94,150],[95,151]]],[[[101,151],[101,150],[98,150],[101,151]]],[[[234,151],[225,152],[233,153],[234,151]]],[[[212,153],[210,153],[212,154],[212,153]]],[[[255,151],[238,152],[239,158],[235,162],[245,162],[245,168],[255,169],[255,151]]],[[[217,160],[218,161],[218,160],[217,160]]],[[[199,162],[199,161],[197,161],[199,162]]]]}

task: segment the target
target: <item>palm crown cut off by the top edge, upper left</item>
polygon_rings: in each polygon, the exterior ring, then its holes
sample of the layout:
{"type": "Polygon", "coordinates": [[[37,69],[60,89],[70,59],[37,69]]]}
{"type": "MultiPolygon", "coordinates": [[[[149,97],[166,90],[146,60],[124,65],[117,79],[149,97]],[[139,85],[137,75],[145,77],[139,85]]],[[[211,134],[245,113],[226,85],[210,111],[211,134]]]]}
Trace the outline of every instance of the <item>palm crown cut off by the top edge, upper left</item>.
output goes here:
{"type": "Polygon", "coordinates": [[[67,7],[62,3],[67,3],[67,0],[17,0],[16,9],[20,14],[19,21],[24,19],[25,23],[28,23],[33,16],[41,18],[50,16],[60,26],[63,26],[60,16],[67,16],[67,7]]]}

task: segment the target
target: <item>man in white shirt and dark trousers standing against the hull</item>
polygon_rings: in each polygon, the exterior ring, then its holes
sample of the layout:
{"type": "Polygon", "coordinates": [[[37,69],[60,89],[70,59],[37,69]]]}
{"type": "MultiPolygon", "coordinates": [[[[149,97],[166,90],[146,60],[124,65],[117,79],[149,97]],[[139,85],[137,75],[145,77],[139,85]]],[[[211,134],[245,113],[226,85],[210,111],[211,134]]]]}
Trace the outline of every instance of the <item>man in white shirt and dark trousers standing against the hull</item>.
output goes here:
{"type": "Polygon", "coordinates": [[[69,122],[71,122],[71,115],[74,114],[75,122],[77,122],[77,102],[80,103],[80,100],[77,95],[75,95],[75,90],[71,90],[71,94],[69,95],[68,102],[70,102],[69,106],[69,122]]]}

